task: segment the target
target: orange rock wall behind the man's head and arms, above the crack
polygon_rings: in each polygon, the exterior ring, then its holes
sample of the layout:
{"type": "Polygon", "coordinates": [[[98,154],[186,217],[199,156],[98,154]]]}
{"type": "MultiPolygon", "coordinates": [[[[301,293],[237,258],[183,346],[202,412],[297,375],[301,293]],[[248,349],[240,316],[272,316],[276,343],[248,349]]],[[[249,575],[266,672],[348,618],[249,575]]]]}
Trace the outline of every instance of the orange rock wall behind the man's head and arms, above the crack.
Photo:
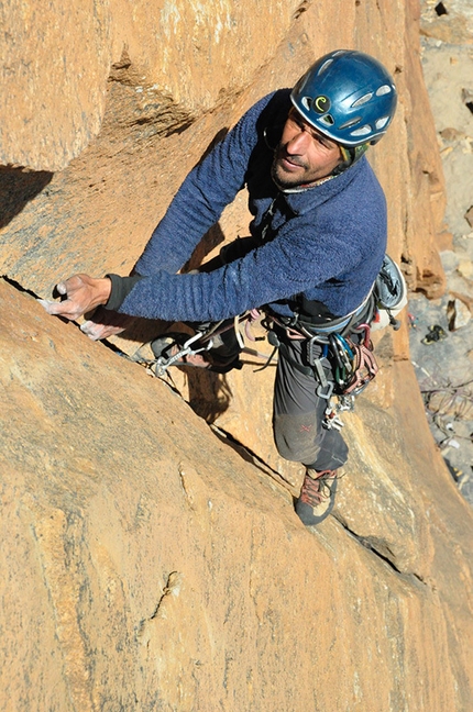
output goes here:
{"type": "Polygon", "coordinates": [[[3,274],[45,296],[65,274],[127,272],[221,131],[320,54],[356,47],[382,59],[399,89],[394,125],[371,155],[388,194],[391,251],[413,289],[440,293],[443,183],[417,2],[22,8],[2,9],[3,274]]]}

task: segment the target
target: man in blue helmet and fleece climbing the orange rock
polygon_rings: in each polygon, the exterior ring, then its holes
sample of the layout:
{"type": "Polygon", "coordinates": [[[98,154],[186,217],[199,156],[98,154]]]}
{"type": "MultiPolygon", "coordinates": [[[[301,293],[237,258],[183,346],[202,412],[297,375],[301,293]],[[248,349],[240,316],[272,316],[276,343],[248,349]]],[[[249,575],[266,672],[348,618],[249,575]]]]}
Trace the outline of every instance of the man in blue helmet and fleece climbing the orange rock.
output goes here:
{"type": "MultiPolygon", "coordinates": [[[[189,173],[131,276],[75,275],[57,285],[62,301],[43,300],[50,314],[69,320],[100,307],[81,327],[91,338],[122,331],[130,316],[231,324],[263,308],[279,346],[274,438],[283,458],[306,468],[295,509],[308,526],[332,511],[348,457],[339,429],[327,423],[328,396],[353,356],[350,335],[365,342],[373,318],[370,296],[387,220],[364,154],[385,134],[395,108],[393,79],[374,57],[345,49],[324,55],[293,89],[255,103],[189,173]],[[250,236],[224,247],[211,269],[178,274],[243,188],[250,236]],[[105,310],[114,320],[102,319],[105,310]]],[[[241,367],[233,329],[211,343],[196,363],[220,372],[241,367]]],[[[165,337],[158,346],[160,340],[155,353],[176,353],[179,340],[165,337]]],[[[191,355],[176,364],[186,359],[193,364],[191,355]]]]}

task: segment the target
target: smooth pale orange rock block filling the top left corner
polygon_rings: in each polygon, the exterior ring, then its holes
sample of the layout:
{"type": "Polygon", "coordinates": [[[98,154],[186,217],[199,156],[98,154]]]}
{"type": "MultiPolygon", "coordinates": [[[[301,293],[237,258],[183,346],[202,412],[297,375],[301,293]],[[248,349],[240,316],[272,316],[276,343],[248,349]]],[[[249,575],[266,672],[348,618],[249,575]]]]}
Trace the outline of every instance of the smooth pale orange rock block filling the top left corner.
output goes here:
{"type": "Polygon", "coordinates": [[[0,9],[0,163],[58,170],[98,134],[110,70],[107,0],[0,9]]]}

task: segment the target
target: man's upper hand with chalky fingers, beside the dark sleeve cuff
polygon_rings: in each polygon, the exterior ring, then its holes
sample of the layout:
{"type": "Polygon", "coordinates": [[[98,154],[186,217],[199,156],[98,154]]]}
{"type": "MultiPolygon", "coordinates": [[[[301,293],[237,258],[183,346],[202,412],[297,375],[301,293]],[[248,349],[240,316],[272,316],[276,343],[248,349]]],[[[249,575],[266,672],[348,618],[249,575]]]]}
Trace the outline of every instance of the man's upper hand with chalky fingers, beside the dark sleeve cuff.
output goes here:
{"type": "Polygon", "coordinates": [[[74,275],[56,286],[58,293],[66,297],[63,301],[38,299],[48,314],[64,316],[70,321],[92,311],[100,304],[107,304],[112,283],[108,277],[94,279],[88,275],[74,275]]]}

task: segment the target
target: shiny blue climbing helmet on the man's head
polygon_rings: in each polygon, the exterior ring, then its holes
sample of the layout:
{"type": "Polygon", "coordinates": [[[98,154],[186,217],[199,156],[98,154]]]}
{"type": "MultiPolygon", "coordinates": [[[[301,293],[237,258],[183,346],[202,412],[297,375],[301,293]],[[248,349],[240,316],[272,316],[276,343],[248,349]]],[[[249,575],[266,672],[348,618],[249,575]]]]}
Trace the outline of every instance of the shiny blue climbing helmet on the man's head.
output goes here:
{"type": "Polygon", "coordinates": [[[318,59],[290,99],[306,121],[348,148],[376,143],[397,103],[393,78],[381,62],[353,49],[337,49],[318,59]]]}

